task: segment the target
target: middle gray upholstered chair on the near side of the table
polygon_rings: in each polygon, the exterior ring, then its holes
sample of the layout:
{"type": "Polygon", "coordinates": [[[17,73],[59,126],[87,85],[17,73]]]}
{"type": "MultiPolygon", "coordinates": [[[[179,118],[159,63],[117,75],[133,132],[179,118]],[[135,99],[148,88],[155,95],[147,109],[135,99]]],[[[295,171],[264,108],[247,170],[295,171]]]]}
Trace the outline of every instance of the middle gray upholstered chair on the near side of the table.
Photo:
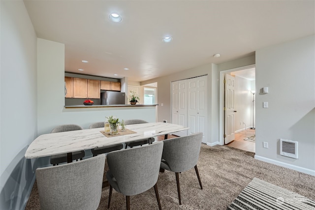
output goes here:
{"type": "Polygon", "coordinates": [[[108,208],[113,188],[126,195],[126,209],[129,210],[131,195],[140,194],[154,186],[158,208],[161,210],[157,181],[162,150],[163,142],[161,141],[107,154],[109,171],[106,173],[106,178],[110,184],[108,208]]]}

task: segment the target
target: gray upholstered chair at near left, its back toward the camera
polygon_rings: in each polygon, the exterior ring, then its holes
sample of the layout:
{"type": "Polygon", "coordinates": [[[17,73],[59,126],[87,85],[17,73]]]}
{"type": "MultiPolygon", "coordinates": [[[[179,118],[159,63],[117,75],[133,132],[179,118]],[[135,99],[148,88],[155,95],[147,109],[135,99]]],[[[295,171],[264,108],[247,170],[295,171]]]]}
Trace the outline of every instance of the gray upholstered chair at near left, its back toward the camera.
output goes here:
{"type": "Polygon", "coordinates": [[[105,155],[36,169],[41,210],[96,210],[102,193],[105,155]]]}

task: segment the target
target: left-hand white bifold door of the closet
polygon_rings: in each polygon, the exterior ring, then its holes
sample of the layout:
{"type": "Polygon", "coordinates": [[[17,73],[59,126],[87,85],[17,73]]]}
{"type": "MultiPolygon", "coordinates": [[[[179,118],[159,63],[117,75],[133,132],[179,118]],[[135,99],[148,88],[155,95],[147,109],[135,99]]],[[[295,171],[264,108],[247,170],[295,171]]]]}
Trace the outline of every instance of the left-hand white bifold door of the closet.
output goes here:
{"type": "MultiPolygon", "coordinates": [[[[172,123],[187,126],[187,81],[172,82],[172,123]]],[[[187,130],[173,133],[187,136],[187,130]]]]}

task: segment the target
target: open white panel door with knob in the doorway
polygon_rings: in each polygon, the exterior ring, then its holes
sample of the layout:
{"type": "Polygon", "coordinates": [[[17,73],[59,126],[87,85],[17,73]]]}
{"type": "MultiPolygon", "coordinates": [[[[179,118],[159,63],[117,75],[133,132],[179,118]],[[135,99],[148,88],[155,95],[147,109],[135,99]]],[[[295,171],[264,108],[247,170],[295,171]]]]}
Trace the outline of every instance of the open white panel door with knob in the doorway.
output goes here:
{"type": "Polygon", "coordinates": [[[235,78],[225,74],[224,83],[224,144],[228,144],[235,139],[235,78]]]}

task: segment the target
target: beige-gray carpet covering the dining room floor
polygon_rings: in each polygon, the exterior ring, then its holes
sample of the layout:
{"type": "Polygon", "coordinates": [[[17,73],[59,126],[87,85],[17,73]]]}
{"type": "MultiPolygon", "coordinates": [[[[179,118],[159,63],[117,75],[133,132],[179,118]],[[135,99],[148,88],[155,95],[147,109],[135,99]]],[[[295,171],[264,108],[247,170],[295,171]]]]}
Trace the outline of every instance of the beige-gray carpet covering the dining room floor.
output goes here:
{"type": "MultiPolygon", "coordinates": [[[[180,174],[182,205],[178,203],[175,174],[159,173],[158,192],[163,210],[226,210],[253,178],[276,184],[315,200],[315,177],[253,158],[254,153],[226,146],[202,144],[198,170],[200,189],[194,169],[180,174]]],[[[107,209],[109,188],[103,188],[99,210],[107,209]]],[[[131,210],[158,210],[154,189],[130,196],[131,210]]],[[[113,190],[110,210],[125,210],[126,198],[113,190]]],[[[39,210],[34,184],[26,210],[39,210]]]]}

